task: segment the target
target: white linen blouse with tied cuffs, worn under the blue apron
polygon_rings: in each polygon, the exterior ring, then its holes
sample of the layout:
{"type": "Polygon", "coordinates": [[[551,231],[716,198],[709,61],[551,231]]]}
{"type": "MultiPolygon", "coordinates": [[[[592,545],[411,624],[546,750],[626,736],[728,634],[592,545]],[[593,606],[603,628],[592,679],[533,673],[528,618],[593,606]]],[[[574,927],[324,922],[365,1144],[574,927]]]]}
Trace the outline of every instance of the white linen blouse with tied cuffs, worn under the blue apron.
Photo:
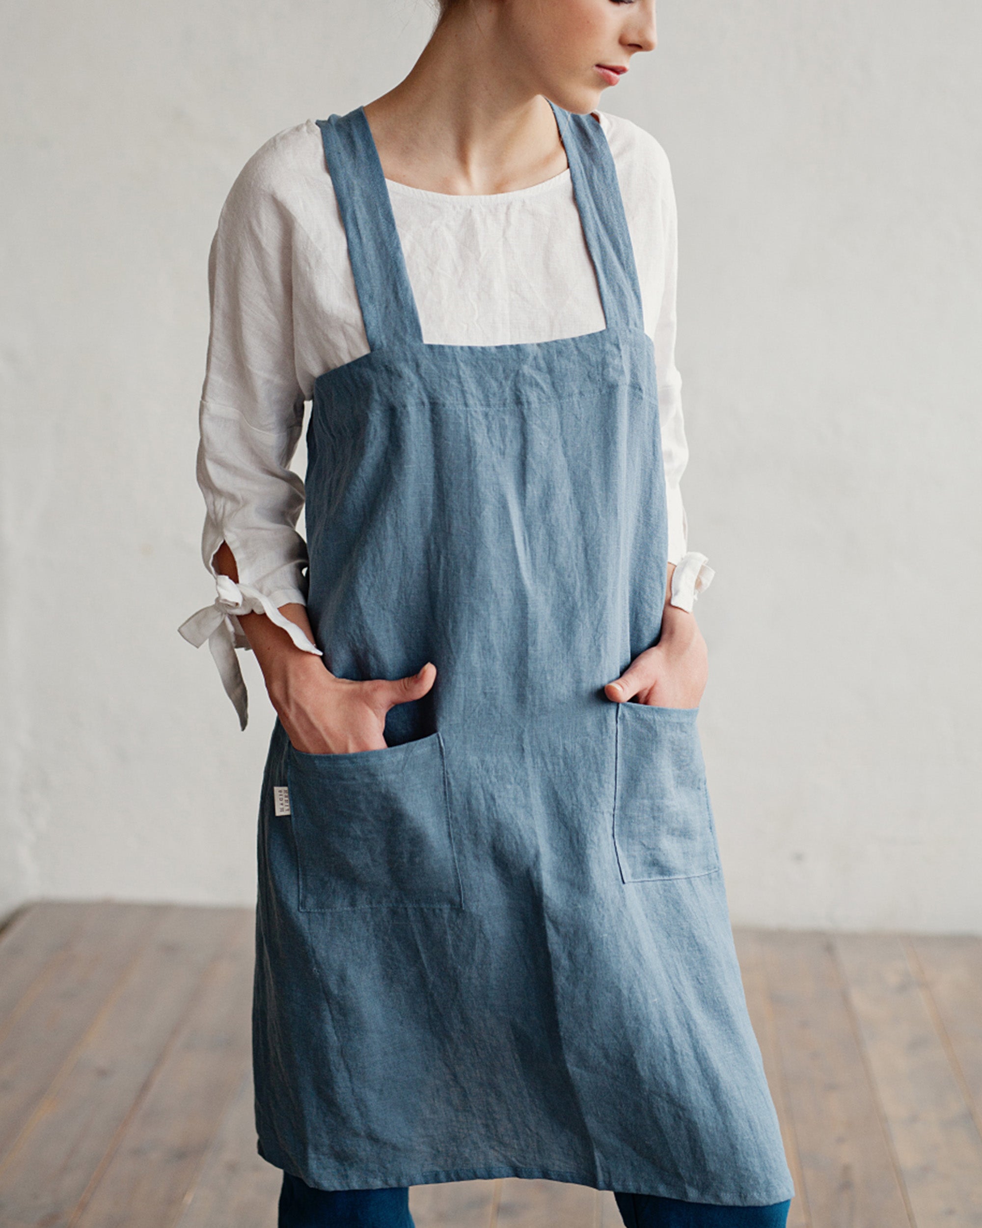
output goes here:
{"type": "MultiPolygon", "coordinates": [[[[668,158],[627,119],[598,118],[610,144],[654,343],[668,496],[673,604],[692,608],[712,580],[687,551],[679,483],[689,449],[675,366],[676,212],[668,158]]],[[[387,181],[423,341],[507,345],[604,328],[568,168],[530,188],[447,195],[387,181]]],[[[180,626],[209,641],[239,723],[247,695],[237,615],[265,613],[319,652],[280,613],[306,603],[307,546],[297,532],[303,481],[291,470],[304,402],[319,375],[368,352],[347,244],[312,119],[277,133],[246,163],[222,208],[209,258],[211,328],[199,410],[201,554],[217,598],[180,626]],[[238,583],[218,576],[228,544],[238,583]]]]}

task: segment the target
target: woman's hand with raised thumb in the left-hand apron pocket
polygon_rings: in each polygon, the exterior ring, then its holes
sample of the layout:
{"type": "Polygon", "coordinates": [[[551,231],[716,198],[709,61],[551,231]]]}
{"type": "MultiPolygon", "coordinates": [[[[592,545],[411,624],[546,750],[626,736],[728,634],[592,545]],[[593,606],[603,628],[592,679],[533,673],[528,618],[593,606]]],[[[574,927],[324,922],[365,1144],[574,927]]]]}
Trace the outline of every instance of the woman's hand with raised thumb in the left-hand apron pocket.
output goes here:
{"type": "MultiPolygon", "coordinates": [[[[253,615],[263,618],[265,615],[253,615]]],[[[247,632],[248,634],[248,632],[247,632]]],[[[273,706],[296,750],[311,755],[351,754],[385,748],[385,713],[396,704],[421,699],[437,670],[428,662],[417,674],[389,682],[335,678],[320,657],[293,650],[266,678],[273,706]]]]}

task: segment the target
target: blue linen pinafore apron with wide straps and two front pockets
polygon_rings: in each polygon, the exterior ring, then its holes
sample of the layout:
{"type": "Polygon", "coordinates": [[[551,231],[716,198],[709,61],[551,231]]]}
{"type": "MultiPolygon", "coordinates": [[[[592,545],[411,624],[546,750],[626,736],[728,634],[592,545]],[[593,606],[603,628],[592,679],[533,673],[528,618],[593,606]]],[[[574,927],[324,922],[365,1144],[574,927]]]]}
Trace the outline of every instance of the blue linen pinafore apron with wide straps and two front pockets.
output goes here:
{"type": "Polygon", "coordinates": [[[554,113],[606,328],[527,345],[423,343],[365,113],[320,122],[371,352],[314,386],[308,610],[334,674],[437,678],[383,750],[274,728],[258,1149],[762,1206],[793,1185],[696,710],[603,693],[660,630],[654,349],[606,139],[554,113]]]}

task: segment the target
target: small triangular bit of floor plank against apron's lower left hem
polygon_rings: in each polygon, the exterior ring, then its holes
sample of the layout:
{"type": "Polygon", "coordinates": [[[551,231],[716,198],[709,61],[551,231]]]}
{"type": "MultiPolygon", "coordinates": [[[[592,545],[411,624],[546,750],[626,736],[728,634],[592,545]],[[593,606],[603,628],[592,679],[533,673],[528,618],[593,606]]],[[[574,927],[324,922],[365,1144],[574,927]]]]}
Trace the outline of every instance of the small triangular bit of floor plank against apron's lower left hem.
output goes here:
{"type": "Polygon", "coordinates": [[[274,1228],[282,1175],[255,1149],[253,1074],[247,1063],[174,1228],[274,1228]]]}

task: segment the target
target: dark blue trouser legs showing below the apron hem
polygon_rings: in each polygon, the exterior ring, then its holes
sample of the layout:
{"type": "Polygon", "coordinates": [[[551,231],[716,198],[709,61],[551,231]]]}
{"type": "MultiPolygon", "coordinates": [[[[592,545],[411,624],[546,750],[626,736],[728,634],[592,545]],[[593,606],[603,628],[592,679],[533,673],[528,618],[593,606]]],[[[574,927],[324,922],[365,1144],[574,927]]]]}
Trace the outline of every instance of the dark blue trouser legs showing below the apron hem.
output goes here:
{"type": "MultiPolygon", "coordinates": [[[[784,1228],[791,1205],[717,1207],[651,1194],[614,1197],[626,1228],[784,1228]]],[[[312,1190],[284,1173],[279,1228],[414,1228],[409,1190],[312,1190]]]]}

